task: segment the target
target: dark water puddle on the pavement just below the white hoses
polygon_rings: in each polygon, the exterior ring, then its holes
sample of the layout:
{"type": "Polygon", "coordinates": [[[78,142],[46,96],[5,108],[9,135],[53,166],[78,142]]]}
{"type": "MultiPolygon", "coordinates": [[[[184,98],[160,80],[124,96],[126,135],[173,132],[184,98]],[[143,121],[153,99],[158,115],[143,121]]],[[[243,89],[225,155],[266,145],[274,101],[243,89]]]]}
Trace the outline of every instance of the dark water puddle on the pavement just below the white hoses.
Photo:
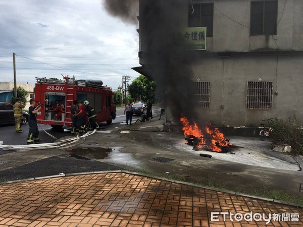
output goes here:
{"type": "Polygon", "coordinates": [[[88,148],[74,148],[68,149],[67,154],[69,157],[74,157],[77,159],[104,159],[109,157],[109,153],[112,152],[111,148],[103,147],[88,147],[88,148]]]}

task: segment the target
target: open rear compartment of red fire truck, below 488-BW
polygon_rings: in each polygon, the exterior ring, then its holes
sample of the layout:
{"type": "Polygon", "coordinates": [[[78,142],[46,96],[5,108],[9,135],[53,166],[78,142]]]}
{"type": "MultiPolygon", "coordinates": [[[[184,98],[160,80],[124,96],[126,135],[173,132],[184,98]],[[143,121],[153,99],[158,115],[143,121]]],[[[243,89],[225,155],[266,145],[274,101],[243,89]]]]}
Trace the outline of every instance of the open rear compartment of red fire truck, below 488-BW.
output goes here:
{"type": "Polygon", "coordinates": [[[44,120],[64,121],[65,120],[65,97],[63,92],[45,92],[44,120]]]}

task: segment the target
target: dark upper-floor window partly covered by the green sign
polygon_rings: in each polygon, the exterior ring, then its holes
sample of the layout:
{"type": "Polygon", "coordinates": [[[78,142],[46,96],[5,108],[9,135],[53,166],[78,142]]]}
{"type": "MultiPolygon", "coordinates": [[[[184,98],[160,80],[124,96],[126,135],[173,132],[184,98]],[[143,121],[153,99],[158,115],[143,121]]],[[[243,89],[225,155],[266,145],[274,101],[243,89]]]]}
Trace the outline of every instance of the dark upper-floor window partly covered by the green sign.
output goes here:
{"type": "Polygon", "coordinates": [[[188,6],[188,27],[206,27],[207,37],[213,37],[214,4],[193,4],[188,6]]]}

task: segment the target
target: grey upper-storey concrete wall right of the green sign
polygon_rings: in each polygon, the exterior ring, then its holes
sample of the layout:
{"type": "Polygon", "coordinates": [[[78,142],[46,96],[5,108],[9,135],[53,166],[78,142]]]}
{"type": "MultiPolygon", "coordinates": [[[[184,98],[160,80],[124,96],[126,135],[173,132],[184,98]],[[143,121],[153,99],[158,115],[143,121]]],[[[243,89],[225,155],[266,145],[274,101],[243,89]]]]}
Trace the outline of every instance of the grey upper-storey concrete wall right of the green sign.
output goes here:
{"type": "Polygon", "coordinates": [[[207,38],[207,51],[303,50],[303,1],[288,0],[286,4],[285,0],[278,1],[277,35],[256,36],[249,36],[250,0],[212,2],[213,37],[207,38]]]}

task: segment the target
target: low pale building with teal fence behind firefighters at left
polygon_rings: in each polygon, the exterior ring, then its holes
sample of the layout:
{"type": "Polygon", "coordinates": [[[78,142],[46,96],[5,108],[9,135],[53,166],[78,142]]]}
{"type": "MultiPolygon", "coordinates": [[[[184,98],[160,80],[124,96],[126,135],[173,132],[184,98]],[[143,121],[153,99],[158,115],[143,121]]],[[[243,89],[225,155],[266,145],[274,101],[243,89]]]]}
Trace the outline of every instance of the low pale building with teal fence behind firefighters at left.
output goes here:
{"type": "MultiPolygon", "coordinates": [[[[27,95],[27,102],[25,104],[25,109],[28,109],[30,106],[29,100],[33,97],[34,94],[34,86],[32,84],[23,84],[23,83],[17,83],[17,87],[23,87],[25,91],[28,92],[27,95]]],[[[13,82],[0,82],[0,96],[2,96],[2,100],[5,102],[11,102],[12,98],[14,97],[14,93],[12,92],[12,89],[14,88],[13,82]],[[5,100],[6,99],[6,100],[5,100]]]]}

